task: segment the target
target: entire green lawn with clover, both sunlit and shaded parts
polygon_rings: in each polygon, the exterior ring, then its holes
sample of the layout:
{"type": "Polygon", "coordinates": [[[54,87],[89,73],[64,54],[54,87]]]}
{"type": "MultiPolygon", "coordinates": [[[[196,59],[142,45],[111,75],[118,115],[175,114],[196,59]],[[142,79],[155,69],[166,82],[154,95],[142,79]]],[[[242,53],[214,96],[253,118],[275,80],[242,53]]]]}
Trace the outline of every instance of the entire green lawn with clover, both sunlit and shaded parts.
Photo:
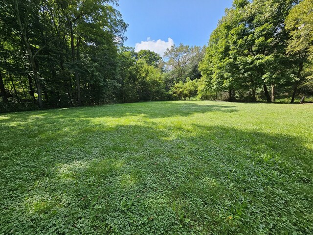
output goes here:
{"type": "Polygon", "coordinates": [[[0,234],[312,234],[313,107],[0,115],[0,234]]]}

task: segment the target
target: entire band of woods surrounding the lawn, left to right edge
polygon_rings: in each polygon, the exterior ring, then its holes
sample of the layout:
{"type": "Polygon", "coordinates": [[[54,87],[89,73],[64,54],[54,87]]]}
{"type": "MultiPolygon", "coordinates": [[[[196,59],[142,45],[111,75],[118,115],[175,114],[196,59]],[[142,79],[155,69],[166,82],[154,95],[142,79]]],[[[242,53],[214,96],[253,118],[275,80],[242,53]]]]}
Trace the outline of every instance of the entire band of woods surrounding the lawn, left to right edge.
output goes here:
{"type": "Polygon", "coordinates": [[[0,0],[0,111],[313,95],[313,0],[234,0],[208,46],[124,47],[117,0],[0,0]]]}

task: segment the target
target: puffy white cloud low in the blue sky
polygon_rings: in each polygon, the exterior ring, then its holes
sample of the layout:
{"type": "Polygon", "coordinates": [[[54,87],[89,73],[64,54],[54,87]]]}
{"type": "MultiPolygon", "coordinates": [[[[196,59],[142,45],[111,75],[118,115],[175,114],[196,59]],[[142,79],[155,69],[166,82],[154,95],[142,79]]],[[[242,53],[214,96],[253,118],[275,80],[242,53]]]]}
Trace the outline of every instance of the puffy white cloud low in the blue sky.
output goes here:
{"type": "Polygon", "coordinates": [[[139,50],[151,50],[154,51],[161,56],[163,56],[165,50],[174,45],[174,41],[171,38],[167,39],[167,42],[159,40],[151,40],[151,38],[147,38],[147,41],[141,41],[141,43],[136,43],[135,51],[139,50]]]}

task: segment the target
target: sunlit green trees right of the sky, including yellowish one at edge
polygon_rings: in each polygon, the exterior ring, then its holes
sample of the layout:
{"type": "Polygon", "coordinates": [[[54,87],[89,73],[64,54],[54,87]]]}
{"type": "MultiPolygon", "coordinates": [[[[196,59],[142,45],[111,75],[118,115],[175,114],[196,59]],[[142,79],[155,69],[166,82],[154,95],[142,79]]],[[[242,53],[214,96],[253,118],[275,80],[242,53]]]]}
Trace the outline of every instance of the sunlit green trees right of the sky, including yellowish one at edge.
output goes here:
{"type": "Polygon", "coordinates": [[[234,0],[200,65],[207,90],[268,102],[313,94],[313,0],[234,0]]]}

